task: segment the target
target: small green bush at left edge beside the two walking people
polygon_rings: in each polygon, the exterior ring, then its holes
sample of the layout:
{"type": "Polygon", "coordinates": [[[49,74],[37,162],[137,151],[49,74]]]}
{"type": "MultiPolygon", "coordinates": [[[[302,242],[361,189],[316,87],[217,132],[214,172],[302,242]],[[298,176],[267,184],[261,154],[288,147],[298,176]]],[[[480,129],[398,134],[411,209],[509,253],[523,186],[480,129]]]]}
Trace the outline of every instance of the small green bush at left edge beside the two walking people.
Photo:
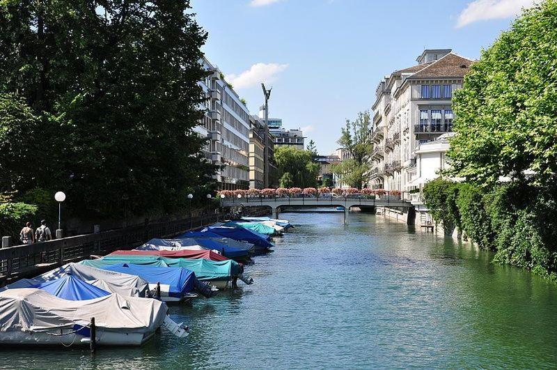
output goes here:
{"type": "Polygon", "coordinates": [[[15,245],[19,244],[19,231],[26,222],[36,225],[37,207],[26,203],[0,204],[0,236],[11,236],[15,245]]]}

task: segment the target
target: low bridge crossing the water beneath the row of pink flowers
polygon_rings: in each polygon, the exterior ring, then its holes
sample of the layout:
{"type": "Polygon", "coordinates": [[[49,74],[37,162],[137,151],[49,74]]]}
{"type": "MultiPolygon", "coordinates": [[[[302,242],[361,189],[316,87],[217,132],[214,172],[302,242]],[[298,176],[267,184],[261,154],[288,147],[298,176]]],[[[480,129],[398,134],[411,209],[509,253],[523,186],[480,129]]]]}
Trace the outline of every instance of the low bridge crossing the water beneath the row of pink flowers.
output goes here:
{"type": "Polygon", "coordinates": [[[346,212],[352,207],[375,209],[377,207],[408,208],[414,210],[410,201],[393,196],[381,199],[365,196],[276,196],[274,198],[239,196],[237,198],[221,198],[221,207],[269,207],[275,218],[285,207],[317,208],[343,207],[346,212]]]}

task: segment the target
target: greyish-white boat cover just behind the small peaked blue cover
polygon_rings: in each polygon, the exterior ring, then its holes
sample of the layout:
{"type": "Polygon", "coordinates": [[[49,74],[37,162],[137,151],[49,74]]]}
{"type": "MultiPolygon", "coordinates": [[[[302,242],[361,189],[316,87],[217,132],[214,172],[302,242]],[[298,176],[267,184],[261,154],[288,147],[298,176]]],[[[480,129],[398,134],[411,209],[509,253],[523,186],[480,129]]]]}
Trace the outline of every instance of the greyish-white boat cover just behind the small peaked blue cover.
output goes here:
{"type": "Polygon", "coordinates": [[[66,275],[72,275],[77,279],[101,288],[110,293],[118,293],[125,297],[145,297],[149,291],[149,284],[139,276],[128,275],[122,272],[113,272],[80,265],[79,263],[68,263],[61,268],[45,272],[33,279],[22,279],[7,286],[7,288],[31,288],[53,279],[59,279],[66,275]]]}

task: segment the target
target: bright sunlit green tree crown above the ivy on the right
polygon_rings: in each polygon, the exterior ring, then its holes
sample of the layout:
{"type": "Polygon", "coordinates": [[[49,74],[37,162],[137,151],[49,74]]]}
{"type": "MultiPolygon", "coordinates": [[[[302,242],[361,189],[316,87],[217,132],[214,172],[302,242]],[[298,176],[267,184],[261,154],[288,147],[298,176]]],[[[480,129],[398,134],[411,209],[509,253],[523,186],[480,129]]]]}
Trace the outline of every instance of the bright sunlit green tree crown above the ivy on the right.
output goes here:
{"type": "Polygon", "coordinates": [[[453,174],[482,187],[499,176],[543,184],[557,173],[557,1],[542,1],[471,65],[453,107],[453,174]]]}

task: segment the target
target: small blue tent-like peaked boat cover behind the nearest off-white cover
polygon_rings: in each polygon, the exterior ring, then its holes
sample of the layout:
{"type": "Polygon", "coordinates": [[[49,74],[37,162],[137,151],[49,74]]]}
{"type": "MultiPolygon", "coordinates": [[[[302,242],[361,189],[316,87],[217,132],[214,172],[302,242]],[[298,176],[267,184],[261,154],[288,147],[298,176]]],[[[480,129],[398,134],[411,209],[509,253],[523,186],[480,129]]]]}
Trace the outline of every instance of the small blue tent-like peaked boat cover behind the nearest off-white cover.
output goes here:
{"type": "Polygon", "coordinates": [[[101,288],[83,282],[72,275],[65,275],[60,279],[49,280],[48,282],[32,286],[32,288],[39,288],[43,291],[47,291],[63,300],[94,300],[95,298],[111,294],[107,291],[103,291],[101,288]]]}

